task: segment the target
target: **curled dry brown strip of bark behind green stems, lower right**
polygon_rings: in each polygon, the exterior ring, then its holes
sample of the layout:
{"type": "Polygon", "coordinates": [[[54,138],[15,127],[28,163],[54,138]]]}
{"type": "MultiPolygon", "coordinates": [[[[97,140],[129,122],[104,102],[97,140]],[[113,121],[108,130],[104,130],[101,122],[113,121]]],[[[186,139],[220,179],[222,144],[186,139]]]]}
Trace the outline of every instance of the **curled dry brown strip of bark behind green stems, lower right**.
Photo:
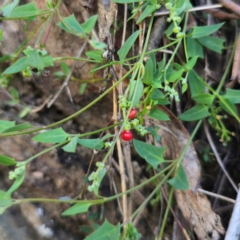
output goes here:
{"type": "MultiPolygon", "coordinates": [[[[160,126],[158,134],[161,136],[161,144],[156,141],[154,144],[166,146],[166,159],[176,159],[183,151],[189,135],[169,110],[164,107],[161,107],[161,110],[168,114],[170,121],[162,122],[147,118],[146,126],[160,126]]],[[[212,211],[207,197],[196,191],[199,187],[200,164],[193,145],[186,151],[182,164],[188,176],[190,189],[175,190],[178,207],[199,239],[219,239],[220,234],[224,233],[220,217],[212,211]]]]}

